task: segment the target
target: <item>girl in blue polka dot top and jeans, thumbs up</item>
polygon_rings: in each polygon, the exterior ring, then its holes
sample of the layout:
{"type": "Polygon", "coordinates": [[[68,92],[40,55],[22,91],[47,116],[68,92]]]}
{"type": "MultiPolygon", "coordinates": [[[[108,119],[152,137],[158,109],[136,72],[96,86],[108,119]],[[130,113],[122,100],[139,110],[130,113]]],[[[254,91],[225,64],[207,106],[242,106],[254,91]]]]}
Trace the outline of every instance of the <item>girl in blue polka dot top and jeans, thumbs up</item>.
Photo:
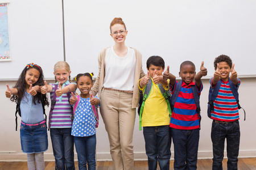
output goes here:
{"type": "Polygon", "coordinates": [[[93,87],[93,74],[84,73],[76,76],[77,88],[79,88],[80,96],[75,96],[72,92],[70,99],[71,104],[77,102],[75,107],[75,117],[72,125],[71,135],[74,136],[77,157],[79,160],[79,169],[96,169],[96,117],[92,109],[92,105],[98,107],[100,99],[89,94],[90,88],[93,87]]]}

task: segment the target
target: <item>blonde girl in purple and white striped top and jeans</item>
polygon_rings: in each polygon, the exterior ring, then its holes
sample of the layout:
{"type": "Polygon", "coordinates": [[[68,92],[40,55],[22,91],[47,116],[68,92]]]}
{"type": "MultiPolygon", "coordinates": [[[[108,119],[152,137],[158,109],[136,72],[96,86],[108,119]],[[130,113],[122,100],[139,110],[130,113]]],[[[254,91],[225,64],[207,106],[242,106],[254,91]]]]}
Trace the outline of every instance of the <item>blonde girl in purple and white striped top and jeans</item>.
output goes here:
{"type": "Polygon", "coordinates": [[[48,126],[55,157],[55,169],[75,169],[74,139],[71,135],[73,111],[69,98],[71,91],[76,90],[76,84],[71,83],[70,67],[65,61],[55,64],[53,74],[56,83],[44,82],[41,91],[42,94],[46,92],[51,94],[48,126]]]}

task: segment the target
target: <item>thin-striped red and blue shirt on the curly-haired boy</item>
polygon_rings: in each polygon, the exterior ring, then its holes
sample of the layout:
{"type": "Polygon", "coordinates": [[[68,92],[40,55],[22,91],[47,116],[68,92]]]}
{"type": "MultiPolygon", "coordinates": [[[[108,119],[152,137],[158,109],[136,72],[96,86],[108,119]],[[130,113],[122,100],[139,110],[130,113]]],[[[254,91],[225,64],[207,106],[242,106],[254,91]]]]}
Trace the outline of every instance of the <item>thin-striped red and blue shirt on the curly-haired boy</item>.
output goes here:
{"type": "MultiPolygon", "coordinates": [[[[212,79],[210,79],[210,87],[212,86],[212,79]]],[[[238,79],[237,88],[240,86],[241,80],[238,79]]],[[[211,112],[211,117],[213,120],[232,122],[239,119],[238,105],[237,101],[230,89],[229,82],[224,82],[222,80],[220,90],[218,90],[218,95],[213,101],[214,110],[211,112]]]]}

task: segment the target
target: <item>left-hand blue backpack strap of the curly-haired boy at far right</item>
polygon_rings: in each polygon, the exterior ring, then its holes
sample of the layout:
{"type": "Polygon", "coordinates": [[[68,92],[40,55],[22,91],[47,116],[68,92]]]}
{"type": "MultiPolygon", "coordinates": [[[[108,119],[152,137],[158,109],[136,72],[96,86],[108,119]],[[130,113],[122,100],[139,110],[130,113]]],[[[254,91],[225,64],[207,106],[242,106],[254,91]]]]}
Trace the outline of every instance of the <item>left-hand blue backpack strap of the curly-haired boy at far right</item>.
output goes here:
{"type": "Polygon", "coordinates": [[[211,112],[214,111],[213,101],[216,99],[218,95],[218,90],[220,90],[220,86],[221,86],[221,80],[217,82],[214,88],[210,87],[209,96],[208,96],[208,109],[207,109],[207,114],[209,118],[211,117],[211,112]]]}

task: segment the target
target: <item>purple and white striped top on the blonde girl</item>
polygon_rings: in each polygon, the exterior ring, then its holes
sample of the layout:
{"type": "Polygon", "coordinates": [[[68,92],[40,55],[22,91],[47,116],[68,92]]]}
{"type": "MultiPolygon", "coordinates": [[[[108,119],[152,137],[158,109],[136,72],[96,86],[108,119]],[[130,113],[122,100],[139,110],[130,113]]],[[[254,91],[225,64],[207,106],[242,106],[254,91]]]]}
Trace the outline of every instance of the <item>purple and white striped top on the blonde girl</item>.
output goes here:
{"type": "MultiPolygon", "coordinates": [[[[50,93],[51,95],[51,100],[53,98],[53,93],[59,88],[59,82],[57,83],[51,83],[50,85],[52,86],[52,92],[50,93]],[[57,84],[57,85],[54,85],[57,84]],[[56,87],[56,88],[55,88],[56,87]]],[[[63,87],[67,86],[69,81],[63,83],[63,87]]],[[[56,104],[55,107],[52,111],[52,116],[50,120],[50,126],[51,128],[72,128],[72,120],[71,116],[73,114],[72,107],[69,104],[68,100],[68,95],[63,94],[61,96],[56,95],[56,104]]]]}

